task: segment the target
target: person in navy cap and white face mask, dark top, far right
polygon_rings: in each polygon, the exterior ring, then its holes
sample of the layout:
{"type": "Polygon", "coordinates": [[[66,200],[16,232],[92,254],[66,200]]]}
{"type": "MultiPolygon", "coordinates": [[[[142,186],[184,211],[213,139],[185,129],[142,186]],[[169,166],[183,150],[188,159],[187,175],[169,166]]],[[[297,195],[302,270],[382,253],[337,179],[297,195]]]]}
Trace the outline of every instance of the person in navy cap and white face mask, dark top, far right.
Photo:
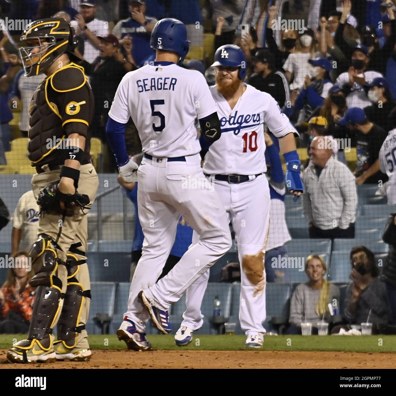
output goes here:
{"type": "Polygon", "coordinates": [[[367,97],[373,103],[364,108],[366,117],[369,121],[381,126],[385,132],[390,129],[388,126],[388,115],[395,107],[388,89],[388,82],[383,77],[374,78],[371,84],[367,84],[369,89],[367,97]]]}

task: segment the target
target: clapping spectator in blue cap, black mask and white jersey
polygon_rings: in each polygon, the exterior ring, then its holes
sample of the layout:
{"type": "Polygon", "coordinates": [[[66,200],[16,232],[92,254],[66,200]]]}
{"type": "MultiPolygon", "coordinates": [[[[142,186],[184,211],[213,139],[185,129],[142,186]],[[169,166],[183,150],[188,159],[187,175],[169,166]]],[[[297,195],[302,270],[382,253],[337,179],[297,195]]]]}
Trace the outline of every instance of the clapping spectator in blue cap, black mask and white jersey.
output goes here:
{"type": "Polygon", "coordinates": [[[370,84],[374,78],[383,77],[381,73],[367,70],[370,61],[367,47],[356,46],[352,52],[352,66],[347,72],[341,73],[335,83],[347,92],[346,105],[348,107],[360,107],[364,109],[371,105],[364,92],[364,86],[370,84]]]}

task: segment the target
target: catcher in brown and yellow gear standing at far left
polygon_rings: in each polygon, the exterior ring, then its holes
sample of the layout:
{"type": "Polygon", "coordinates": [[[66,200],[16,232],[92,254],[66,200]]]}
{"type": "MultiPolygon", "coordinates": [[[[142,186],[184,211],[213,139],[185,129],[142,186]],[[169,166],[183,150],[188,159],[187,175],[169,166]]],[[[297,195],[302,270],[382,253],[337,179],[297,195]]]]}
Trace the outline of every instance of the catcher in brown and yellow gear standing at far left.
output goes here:
{"type": "Polygon", "coordinates": [[[82,67],[72,62],[73,29],[63,18],[30,23],[21,41],[26,75],[47,77],[29,107],[28,157],[37,171],[32,190],[40,207],[38,236],[29,252],[36,297],[27,339],[14,344],[7,358],[85,361],[91,357],[85,330],[90,299],[86,213],[99,185],[89,154],[93,95],[82,67]]]}

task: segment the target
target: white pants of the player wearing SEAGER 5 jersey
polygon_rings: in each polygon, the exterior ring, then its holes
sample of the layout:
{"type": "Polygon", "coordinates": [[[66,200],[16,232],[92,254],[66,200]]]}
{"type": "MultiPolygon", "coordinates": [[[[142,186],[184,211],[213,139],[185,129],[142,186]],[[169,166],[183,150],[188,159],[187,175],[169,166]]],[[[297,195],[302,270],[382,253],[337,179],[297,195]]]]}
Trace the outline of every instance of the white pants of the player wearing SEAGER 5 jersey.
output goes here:
{"type": "Polygon", "coordinates": [[[202,173],[200,163],[199,154],[186,157],[186,162],[143,158],[137,171],[137,204],[145,239],[124,316],[141,333],[149,316],[137,299],[139,291],[145,290],[157,308],[168,310],[231,247],[224,206],[202,173]],[[175,241],[181,214],[198,235],[196,243],[156,283],[175,241]]]}

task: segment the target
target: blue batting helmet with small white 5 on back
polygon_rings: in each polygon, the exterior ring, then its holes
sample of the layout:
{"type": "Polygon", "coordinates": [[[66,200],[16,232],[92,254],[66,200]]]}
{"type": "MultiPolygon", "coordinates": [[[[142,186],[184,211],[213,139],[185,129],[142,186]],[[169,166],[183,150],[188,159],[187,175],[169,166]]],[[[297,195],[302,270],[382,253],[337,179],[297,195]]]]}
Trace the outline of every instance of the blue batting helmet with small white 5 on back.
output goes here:
{"type": "Polygon", "coordinates": [[[180,56],[179,63],[184,61],[190,49],[187,40],[187,29],[178,19],[164,18],[158,21],[151,32],[150,47],[154,50],[176,52],[180,56]]]}

